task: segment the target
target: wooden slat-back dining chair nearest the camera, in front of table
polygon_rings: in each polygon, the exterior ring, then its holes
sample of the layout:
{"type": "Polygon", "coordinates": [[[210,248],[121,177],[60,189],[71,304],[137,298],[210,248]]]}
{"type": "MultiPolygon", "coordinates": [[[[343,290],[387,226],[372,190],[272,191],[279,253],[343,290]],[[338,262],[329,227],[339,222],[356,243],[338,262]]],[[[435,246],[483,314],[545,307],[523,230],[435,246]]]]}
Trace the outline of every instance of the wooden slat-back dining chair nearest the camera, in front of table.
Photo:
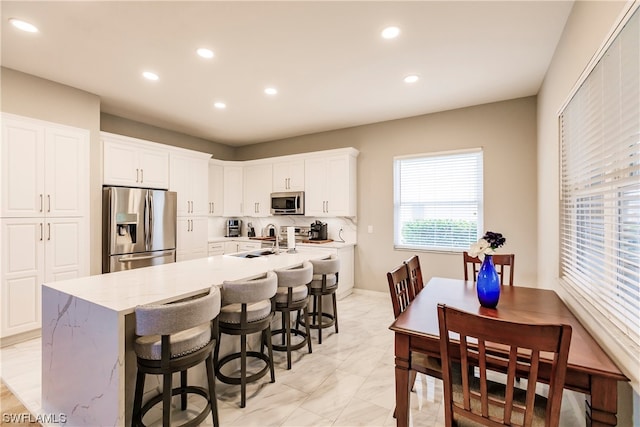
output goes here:
{"type": "Polygon", "coordinates": [[[443,304],[438,322],[447,427],[465,425],[465,419],[494,426],[559,425],[571,326],[509,322],[443,304]],[[546,397],[536,394],[538,373],[545,369],[541,352],[553,354],[546,397]],[[458,359],[461,369],[452,369],[458,359]],[[479,368],[479,376],[459,375],[470,365],[479,368]],[[527,379],[526,390],[515,387],[516,375],[527,379]]]}

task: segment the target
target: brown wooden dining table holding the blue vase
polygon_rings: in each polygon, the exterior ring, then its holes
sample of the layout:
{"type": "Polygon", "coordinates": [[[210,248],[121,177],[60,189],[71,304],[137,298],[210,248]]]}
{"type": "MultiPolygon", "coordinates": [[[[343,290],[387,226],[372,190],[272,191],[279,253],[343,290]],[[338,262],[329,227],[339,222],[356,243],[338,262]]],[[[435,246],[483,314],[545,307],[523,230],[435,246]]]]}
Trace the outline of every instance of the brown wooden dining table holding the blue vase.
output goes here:
{"type": "MultiPolygon", "coordinates": [[[[586,395],[587,426],[617,424],[617,383],[629,379],[554,291],[503,286],[498,306],[490,309],[480,306],[472,281],[434,277],[390,326],[395,332],[396,422],[399,427],[409,425],[411,353],[440,356],[438,303],[515,322],[571,325],[573,332],[564,387],[586,395]]],[[[541,362],[541,366],[545,364],[550,366],[550,360],[541,362]]],[[[548,366],[541,371],[548,372],[548,366]]]]}

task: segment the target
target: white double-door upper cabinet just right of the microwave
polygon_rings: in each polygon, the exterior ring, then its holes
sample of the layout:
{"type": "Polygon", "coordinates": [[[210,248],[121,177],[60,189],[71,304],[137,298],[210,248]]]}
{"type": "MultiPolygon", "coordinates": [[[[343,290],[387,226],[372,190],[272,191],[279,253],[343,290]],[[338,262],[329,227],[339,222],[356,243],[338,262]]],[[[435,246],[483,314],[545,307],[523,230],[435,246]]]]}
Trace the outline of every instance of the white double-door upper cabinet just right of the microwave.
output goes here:
{"type": "Polygon", "coordinates": [[[354,217],[356,159],[354,148],[319,152],[305,160],[305,215],[354,217]]]}

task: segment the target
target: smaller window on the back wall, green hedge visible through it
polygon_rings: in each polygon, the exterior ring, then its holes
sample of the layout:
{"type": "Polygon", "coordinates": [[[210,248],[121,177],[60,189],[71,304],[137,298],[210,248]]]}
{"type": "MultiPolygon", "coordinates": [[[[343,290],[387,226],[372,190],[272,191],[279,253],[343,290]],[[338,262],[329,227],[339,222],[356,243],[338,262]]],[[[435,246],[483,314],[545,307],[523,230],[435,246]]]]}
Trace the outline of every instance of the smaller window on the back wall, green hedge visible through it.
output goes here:
{"type": "Polygon", "coordinates": [[[482,230],[482,151],[394,159],[395,247],[465,251],[482,230]]]}

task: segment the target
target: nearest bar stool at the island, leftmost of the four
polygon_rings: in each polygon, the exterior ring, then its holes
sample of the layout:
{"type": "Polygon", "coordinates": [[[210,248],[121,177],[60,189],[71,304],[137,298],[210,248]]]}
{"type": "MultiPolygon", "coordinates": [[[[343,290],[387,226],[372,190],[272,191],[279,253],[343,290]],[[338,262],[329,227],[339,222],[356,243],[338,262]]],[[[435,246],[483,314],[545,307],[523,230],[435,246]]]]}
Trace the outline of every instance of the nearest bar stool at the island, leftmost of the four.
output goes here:
{"type": "Polygon", "coordinates": [[[138,373],[131,423],[144,426],[142,418],[162,402],[162,425],[171,425],[171,397],[180,395],[181,410],[187,409],[187,395],[198,394],[207,405],[195,418],[182,426],[200,425],[209,412],[218,426],[218,407],[213,377],[212,321],[215,329],[220,312],[220,291],[211,288],[206,296],[172,304],[143,305],[135,309],[136,334],[134,351],[138,373]],[[187,370],[204,362],[208,388],[187,385],[187,370]],[[172,376],[180,372],[180,387],[173,388],[172,376]],[[145,376],[162,375],[162,393],[142,405],[145,376]]]}

